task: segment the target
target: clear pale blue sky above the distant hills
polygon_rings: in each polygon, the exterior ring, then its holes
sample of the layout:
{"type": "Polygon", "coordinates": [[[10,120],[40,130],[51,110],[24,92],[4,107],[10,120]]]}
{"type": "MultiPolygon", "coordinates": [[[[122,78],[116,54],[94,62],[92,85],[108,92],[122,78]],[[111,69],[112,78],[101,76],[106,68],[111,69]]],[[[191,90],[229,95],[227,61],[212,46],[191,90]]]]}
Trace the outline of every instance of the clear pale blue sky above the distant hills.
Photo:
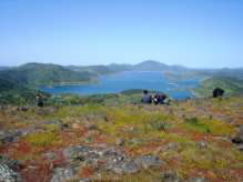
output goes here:
{"type": "Polygon", "coordinates": [[[243,0],[0,0],[0,65],[243,67],[243,0]]]}

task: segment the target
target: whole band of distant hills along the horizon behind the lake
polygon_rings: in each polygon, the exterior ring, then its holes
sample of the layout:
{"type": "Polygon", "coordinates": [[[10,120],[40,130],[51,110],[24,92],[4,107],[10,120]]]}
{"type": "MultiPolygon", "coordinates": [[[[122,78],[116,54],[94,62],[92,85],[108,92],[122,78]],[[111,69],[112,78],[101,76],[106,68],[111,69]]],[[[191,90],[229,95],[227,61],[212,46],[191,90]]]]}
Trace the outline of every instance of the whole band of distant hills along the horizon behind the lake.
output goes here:
{"type": "Polygon", "coordinates": [[[0,78],[23,85],[57,85],[89,83],[100,74],[111,74],[122,71],[161,71],[171,80],[188,78],[231,77],[243,79],[243,69],[189,69],[182,65],[168,65],[153,60],[138,64],[117,64],[62,67],[57,64],[27,63],[21,67],[4,68],[0,71],[0,78]]]}

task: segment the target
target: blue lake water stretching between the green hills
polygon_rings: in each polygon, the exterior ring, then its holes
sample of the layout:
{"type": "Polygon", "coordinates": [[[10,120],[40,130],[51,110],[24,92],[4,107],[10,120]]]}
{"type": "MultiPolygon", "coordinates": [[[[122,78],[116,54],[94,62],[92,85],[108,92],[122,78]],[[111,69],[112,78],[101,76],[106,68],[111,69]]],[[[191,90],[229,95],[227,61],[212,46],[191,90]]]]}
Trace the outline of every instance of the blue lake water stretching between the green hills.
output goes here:
{"type": "Polygon", "coordinates": [[[54,88],[41,88],[52,93],[78,93],[82,95],[100,93],[119,93],[129,89],[156,90],[168,93],[175,99],[193,97],[190,89],[199,85],[199,79],[190,79],[178,82],[168,80],[162,72],[128,71],[115,74],[102,75],[98,83],[85,85],[61,85],[54,88]]]}

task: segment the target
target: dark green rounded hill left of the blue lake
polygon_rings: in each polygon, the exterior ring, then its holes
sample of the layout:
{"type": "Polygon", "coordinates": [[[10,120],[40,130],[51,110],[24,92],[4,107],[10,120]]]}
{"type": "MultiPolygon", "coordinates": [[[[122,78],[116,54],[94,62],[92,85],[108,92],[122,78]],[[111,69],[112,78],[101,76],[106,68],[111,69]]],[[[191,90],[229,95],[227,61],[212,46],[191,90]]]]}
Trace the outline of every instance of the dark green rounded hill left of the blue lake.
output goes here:
{"type": "Polygon", "coordinates": [[[94,77],[88,71],[75,72],[61,65],[43,63],[27,63],[0,72],[0,78],[28,87],[82,83],[94,77]]]}

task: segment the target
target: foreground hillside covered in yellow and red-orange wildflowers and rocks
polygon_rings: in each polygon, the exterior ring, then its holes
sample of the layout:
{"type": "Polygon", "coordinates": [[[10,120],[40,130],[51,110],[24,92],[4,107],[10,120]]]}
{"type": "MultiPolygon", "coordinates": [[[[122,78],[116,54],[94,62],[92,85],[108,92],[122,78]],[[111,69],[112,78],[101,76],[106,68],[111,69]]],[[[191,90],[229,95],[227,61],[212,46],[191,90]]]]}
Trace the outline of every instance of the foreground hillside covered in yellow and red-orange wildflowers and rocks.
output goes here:
{"type": "Polygon", "coordinates": [[[0,107],[0,176],[27,182],[243,181],[242,148],[231,142],[243,124],[243,98],[171,105],[110,99],[43,109],[0,107]]]}

